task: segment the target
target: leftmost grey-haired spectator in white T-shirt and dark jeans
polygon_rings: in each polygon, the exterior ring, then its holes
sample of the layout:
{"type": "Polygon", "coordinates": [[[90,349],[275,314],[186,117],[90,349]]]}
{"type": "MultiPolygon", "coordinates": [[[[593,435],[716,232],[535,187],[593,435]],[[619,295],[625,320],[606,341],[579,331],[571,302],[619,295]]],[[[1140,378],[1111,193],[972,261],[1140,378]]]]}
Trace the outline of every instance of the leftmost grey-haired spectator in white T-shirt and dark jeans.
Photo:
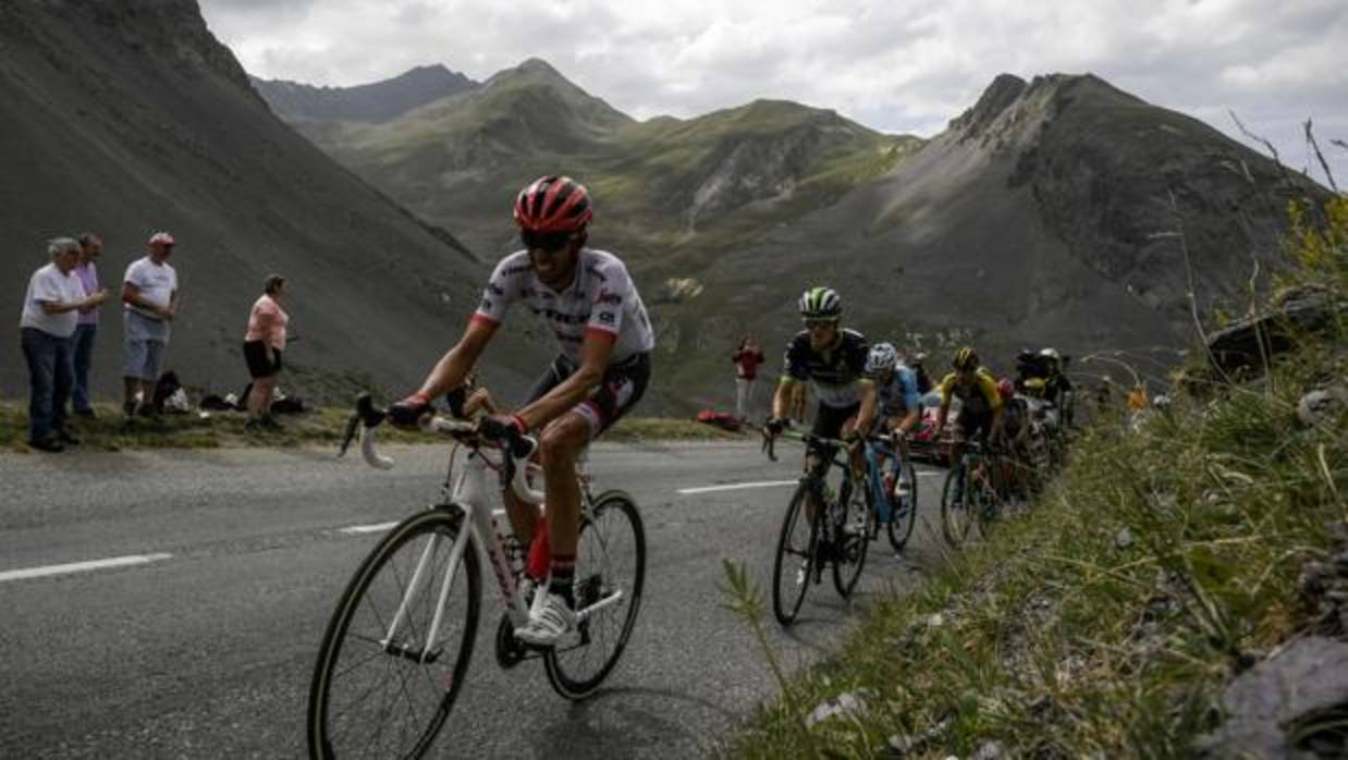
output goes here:
{"type": "Polygon", "coordinates": [[[66,430],[66,400],[74,384],[71,336],[77,313],[96,309],[106,291],[85,295],[74,268],[80,244],[58,237],[47,244],[51,263],[32,274],[23,296],[19,338],[28,362],[28,445],[40,451],[61,451],[78,443],[66,430]]]}

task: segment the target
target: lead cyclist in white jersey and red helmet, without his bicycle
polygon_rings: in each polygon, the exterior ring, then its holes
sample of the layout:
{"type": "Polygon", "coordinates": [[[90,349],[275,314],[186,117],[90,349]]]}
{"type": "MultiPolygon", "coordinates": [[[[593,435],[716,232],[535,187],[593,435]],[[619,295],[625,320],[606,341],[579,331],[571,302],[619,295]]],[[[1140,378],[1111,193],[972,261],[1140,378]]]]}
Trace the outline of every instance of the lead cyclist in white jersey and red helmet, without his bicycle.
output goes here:
{"type": "MultiPolygon", "coordinates": [[[[551,565],[546,604],[516,632],[538,645],[554,644],[576,627],[572,586],[581,507],[576,460],[642,398],[655,348],[627,267],[612,253],[585,247],[592,217],[589,193],[568,177],[542,177],[520,190],[515,222],[524,249],[496,265],[458,344],[421,389],[390,407],[390,419],[404,427],[430,415],[433,399],[462,385],[512,303],[523,303],[555,336],[558,356],[524,404],[514,414],[485,418],[479,427],[508,445],[539,431],[551,565]]],[[[527,546],[535,512],[508,492],[507,511],[515,536],[527,546]]]]}

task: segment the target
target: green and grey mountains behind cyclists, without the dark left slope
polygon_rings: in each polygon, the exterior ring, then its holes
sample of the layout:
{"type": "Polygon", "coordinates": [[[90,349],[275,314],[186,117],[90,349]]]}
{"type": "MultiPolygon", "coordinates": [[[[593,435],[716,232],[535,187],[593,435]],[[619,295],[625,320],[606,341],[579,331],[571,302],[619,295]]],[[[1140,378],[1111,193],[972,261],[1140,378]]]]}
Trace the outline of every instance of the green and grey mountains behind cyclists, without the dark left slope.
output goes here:
{"type": "Polygon", "coordinates": [[[1252,270],[1285,264],[1287,202],[1325,195],[1091,74],[1000,75],[930,139],[789,101],[638,121],[538,59],[392,117],[290,119],[485,259],[516,245],[519,185],[588,183],[593,244],[654,303],[662,381],[698,402],[725,396],[743,331],[783,342],[818,283],[872,338],[1173,362],[1189,294],[1239,309],[1252,270]]]}

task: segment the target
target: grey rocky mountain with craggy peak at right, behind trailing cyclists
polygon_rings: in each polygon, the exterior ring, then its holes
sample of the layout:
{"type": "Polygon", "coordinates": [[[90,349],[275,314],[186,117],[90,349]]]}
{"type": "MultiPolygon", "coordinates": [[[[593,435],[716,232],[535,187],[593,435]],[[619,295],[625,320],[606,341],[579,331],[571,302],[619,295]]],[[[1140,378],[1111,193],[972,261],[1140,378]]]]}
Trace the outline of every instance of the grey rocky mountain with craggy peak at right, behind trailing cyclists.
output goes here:
{"type": "Polygon", "coordinates": [[[689,379],[739,330],[783,333],[813,282],[840,288],[867,334],[973,342],[993,367],[1042,345],[1154,364],[1193,340],[1190,276],[1206,307],[1240,296],[1254,261],[1285,265],[1287,201],[1305,195],[1324,191],[1096,77],[999,77],[883,177],[739,251],[679,247],[648,279],[706,284],[662,310],[692,341],[689,379]],[[725,307],[708,321],[712,302],[725,307]]]}

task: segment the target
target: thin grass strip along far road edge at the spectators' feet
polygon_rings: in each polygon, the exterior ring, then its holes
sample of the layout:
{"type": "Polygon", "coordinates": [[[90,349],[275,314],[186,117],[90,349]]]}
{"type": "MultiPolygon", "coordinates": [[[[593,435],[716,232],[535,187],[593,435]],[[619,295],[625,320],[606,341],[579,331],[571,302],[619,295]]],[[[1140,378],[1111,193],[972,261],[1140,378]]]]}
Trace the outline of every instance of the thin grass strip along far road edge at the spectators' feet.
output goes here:
{"type": "MultiPolygon", "coordinates": [[[[115,404],[94,404],[96,419],[71,420],[70,429],[80,438],[80,450],[117,451],[123,449],[239,449],[287,446],[336,446],[346,426],[346,408],[322,408],[301,415],[280,416],[282,431],[252,433],[244,430],[241,412],[162,415],[125,419],[115,404]]],[[[607,441],[718,441],[736,439],[735,434],[700,424],[694,420],[634,418],[620,420],[607,441]]],[[[0,451],[28,451],[27,407],[0,402],[0,451]]],[[[437,438],[404,433],[392,427],[380,430],[380,439],[391,443],[433,443],[437,438]]]]}

